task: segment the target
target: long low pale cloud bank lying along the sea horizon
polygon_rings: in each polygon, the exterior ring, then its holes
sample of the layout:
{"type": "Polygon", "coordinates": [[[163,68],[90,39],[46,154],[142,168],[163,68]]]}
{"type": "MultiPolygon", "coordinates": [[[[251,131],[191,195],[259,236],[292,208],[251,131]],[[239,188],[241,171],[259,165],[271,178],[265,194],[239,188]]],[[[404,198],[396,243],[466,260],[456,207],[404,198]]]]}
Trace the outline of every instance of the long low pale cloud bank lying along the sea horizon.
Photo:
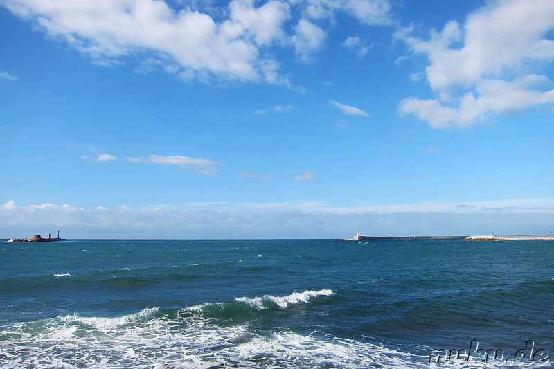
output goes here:
{"type": "Polygon", "coordinates": [[[66,238],[336,238],[363,235],[548,235],[554,198],[332,208],[319,202],[85,209],[0,206],[0,237],[61,231],[66,238]]]}

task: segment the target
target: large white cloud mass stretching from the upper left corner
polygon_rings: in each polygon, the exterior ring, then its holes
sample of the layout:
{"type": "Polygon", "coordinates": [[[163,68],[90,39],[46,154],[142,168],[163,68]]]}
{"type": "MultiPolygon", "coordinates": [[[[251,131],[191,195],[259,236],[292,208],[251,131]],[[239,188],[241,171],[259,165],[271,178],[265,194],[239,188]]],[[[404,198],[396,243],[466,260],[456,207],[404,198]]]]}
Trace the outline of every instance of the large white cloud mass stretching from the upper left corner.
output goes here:
{"type": "Polygon", "coordinates": [[[272,75],[278,64],[268,64],[256,47],[283,37],[280,26],[289,8],[277,1],[261,8],[233,1],[231,19],[220,23],[154,0],[6,0],[3,5],[102,64],[138,52],[178,65],[184,78],[283,82],[272,75]]]}

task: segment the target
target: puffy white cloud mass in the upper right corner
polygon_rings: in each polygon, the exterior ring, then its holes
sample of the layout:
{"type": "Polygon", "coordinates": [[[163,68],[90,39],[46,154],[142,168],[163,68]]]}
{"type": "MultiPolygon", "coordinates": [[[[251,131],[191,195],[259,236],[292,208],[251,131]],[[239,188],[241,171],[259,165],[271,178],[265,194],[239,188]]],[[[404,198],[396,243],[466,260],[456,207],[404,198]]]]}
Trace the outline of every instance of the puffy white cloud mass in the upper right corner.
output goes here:
{"type": "Polygon", "coordinates": [[[541,75],[554,58],[550,0],[493,1],[465,24],[450,21],[427,41],[399,33],[412,51],[427,56],[429,86],[438,96],[400,102],[402,114],[414,114],[435,128],[467,127],[491,114],[552,104],[552,81],[541,75]],[[535,72],[535,73],[533,73],[535,72]]]}

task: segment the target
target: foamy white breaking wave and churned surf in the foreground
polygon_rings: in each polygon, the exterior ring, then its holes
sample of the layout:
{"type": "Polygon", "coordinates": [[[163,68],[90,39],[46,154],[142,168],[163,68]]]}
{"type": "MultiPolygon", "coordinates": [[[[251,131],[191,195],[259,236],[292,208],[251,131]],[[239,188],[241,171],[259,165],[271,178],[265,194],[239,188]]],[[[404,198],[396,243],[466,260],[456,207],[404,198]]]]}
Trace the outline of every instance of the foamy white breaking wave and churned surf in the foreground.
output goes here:
{"type": "Polygon", "coordinates": [[[262,330],[205,316],[220,304],[262,312],[332,294],[322,289],[184,309],[154,307],[113,318],[67,315],[19,323],[0,330],[0,358],[6,369],[38,362],[56,368],[427,368],[427,357],[365,341],[262,330]]]}

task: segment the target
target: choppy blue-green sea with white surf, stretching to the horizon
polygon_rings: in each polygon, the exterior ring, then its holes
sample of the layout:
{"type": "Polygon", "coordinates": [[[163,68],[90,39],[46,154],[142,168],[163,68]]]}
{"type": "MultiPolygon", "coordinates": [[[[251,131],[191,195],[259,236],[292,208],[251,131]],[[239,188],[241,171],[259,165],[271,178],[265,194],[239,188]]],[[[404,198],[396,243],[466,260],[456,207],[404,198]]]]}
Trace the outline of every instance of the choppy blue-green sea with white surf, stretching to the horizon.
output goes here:
{"type": "Polygon", "coordinates": [[[0,243],[0,368],[553,368],[554,242],[0,243]]]}

